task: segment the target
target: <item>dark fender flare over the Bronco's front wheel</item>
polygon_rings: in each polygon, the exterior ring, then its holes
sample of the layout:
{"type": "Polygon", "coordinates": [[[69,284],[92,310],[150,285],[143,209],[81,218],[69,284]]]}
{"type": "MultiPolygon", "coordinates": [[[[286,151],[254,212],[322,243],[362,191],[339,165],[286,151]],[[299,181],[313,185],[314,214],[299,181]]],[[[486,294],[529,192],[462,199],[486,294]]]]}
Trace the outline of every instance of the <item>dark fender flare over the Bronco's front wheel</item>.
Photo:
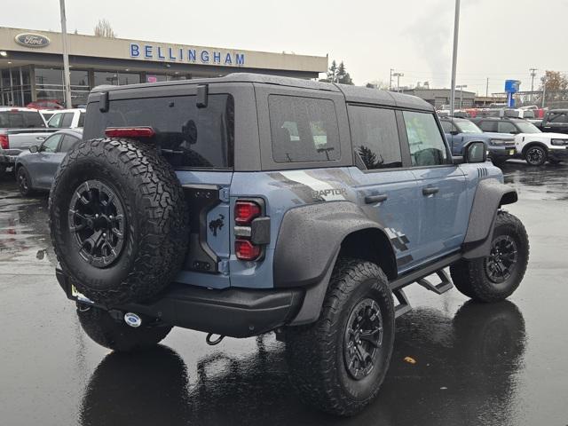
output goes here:
{"type": "Polygon", "coordinates": [[[469,213],[468,230],[463,241],[464,257],[472,259],[489,254],[497,211],[504,204],[517,202],[517,191],[497,179],[479,182],[469,213]]]}

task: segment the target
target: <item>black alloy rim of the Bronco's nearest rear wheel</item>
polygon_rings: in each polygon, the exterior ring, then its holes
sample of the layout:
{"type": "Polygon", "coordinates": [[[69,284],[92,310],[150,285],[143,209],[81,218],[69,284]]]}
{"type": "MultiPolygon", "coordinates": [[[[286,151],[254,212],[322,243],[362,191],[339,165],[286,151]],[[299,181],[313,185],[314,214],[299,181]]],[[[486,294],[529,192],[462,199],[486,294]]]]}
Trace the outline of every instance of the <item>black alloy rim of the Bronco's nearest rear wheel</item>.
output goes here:
{"type": "Polygon", "coordinates": [[[343,343],[345,367],[355,380],[367,377],[375,367],[383,344],[383,316],[374,299],[356,304],[347,320],[343,343]]]}

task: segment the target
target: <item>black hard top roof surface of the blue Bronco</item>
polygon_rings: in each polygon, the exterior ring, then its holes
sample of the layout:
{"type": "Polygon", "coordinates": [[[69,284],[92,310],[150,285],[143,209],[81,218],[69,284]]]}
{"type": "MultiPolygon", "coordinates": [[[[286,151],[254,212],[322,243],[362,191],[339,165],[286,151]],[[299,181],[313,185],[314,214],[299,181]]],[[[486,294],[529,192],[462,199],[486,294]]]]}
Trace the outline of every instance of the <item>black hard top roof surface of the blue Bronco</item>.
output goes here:
{"type": "Polygon", "coordinates": [[[264,75],[252,73],[233,73],[223,77],[199,78],[192,80],[176,80],[159,83],[129,84],[127,86],[102,85],[95,87],[91,92],[121,91],[132,89],[145,89],[157,86],[175,86],[180,84],[213,84],[213,83],[266,83],[280,86],[312,89],[316,91],[341,91],[347,102],[378,104],[384,106],[399,106],[423,111],[434,111],[434,107],[423,99],[411,95],[403,95],[392,91],[380,91],[367,87],[351,86],[347,84],[324,83],[300,78],[280,77],[278,75],[264,75]]]}

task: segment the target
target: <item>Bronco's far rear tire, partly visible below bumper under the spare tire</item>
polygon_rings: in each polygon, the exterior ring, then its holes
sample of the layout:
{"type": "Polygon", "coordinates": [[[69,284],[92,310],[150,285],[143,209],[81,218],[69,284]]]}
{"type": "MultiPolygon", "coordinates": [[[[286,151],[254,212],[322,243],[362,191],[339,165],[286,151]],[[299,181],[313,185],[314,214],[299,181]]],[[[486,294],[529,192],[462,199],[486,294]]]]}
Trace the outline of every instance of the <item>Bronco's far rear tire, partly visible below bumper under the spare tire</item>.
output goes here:
{"type": "Polygon", "coordinates": [[[124,321],[114,319],[111,315],[94,306],[77,304],[77,316],[83,331],[91,339],[113,351],[141,351],[162,342],[170,333],[167,325],[145,325],[130,327],[124,321]]]}

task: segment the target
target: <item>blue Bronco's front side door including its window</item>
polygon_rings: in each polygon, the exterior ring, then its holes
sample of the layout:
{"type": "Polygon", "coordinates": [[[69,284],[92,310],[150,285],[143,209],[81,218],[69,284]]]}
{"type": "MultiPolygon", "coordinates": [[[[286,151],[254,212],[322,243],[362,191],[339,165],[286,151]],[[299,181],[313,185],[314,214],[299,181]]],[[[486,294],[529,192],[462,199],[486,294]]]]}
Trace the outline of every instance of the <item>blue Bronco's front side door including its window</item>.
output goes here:
{"type": "Polygon", "coordinates": [[[415,254],[427,261],[461,248],[469,217],[465,176],[452,164],[434,114],[402,114],[411,170],[418,186],[420,238],[415,254]]]}

